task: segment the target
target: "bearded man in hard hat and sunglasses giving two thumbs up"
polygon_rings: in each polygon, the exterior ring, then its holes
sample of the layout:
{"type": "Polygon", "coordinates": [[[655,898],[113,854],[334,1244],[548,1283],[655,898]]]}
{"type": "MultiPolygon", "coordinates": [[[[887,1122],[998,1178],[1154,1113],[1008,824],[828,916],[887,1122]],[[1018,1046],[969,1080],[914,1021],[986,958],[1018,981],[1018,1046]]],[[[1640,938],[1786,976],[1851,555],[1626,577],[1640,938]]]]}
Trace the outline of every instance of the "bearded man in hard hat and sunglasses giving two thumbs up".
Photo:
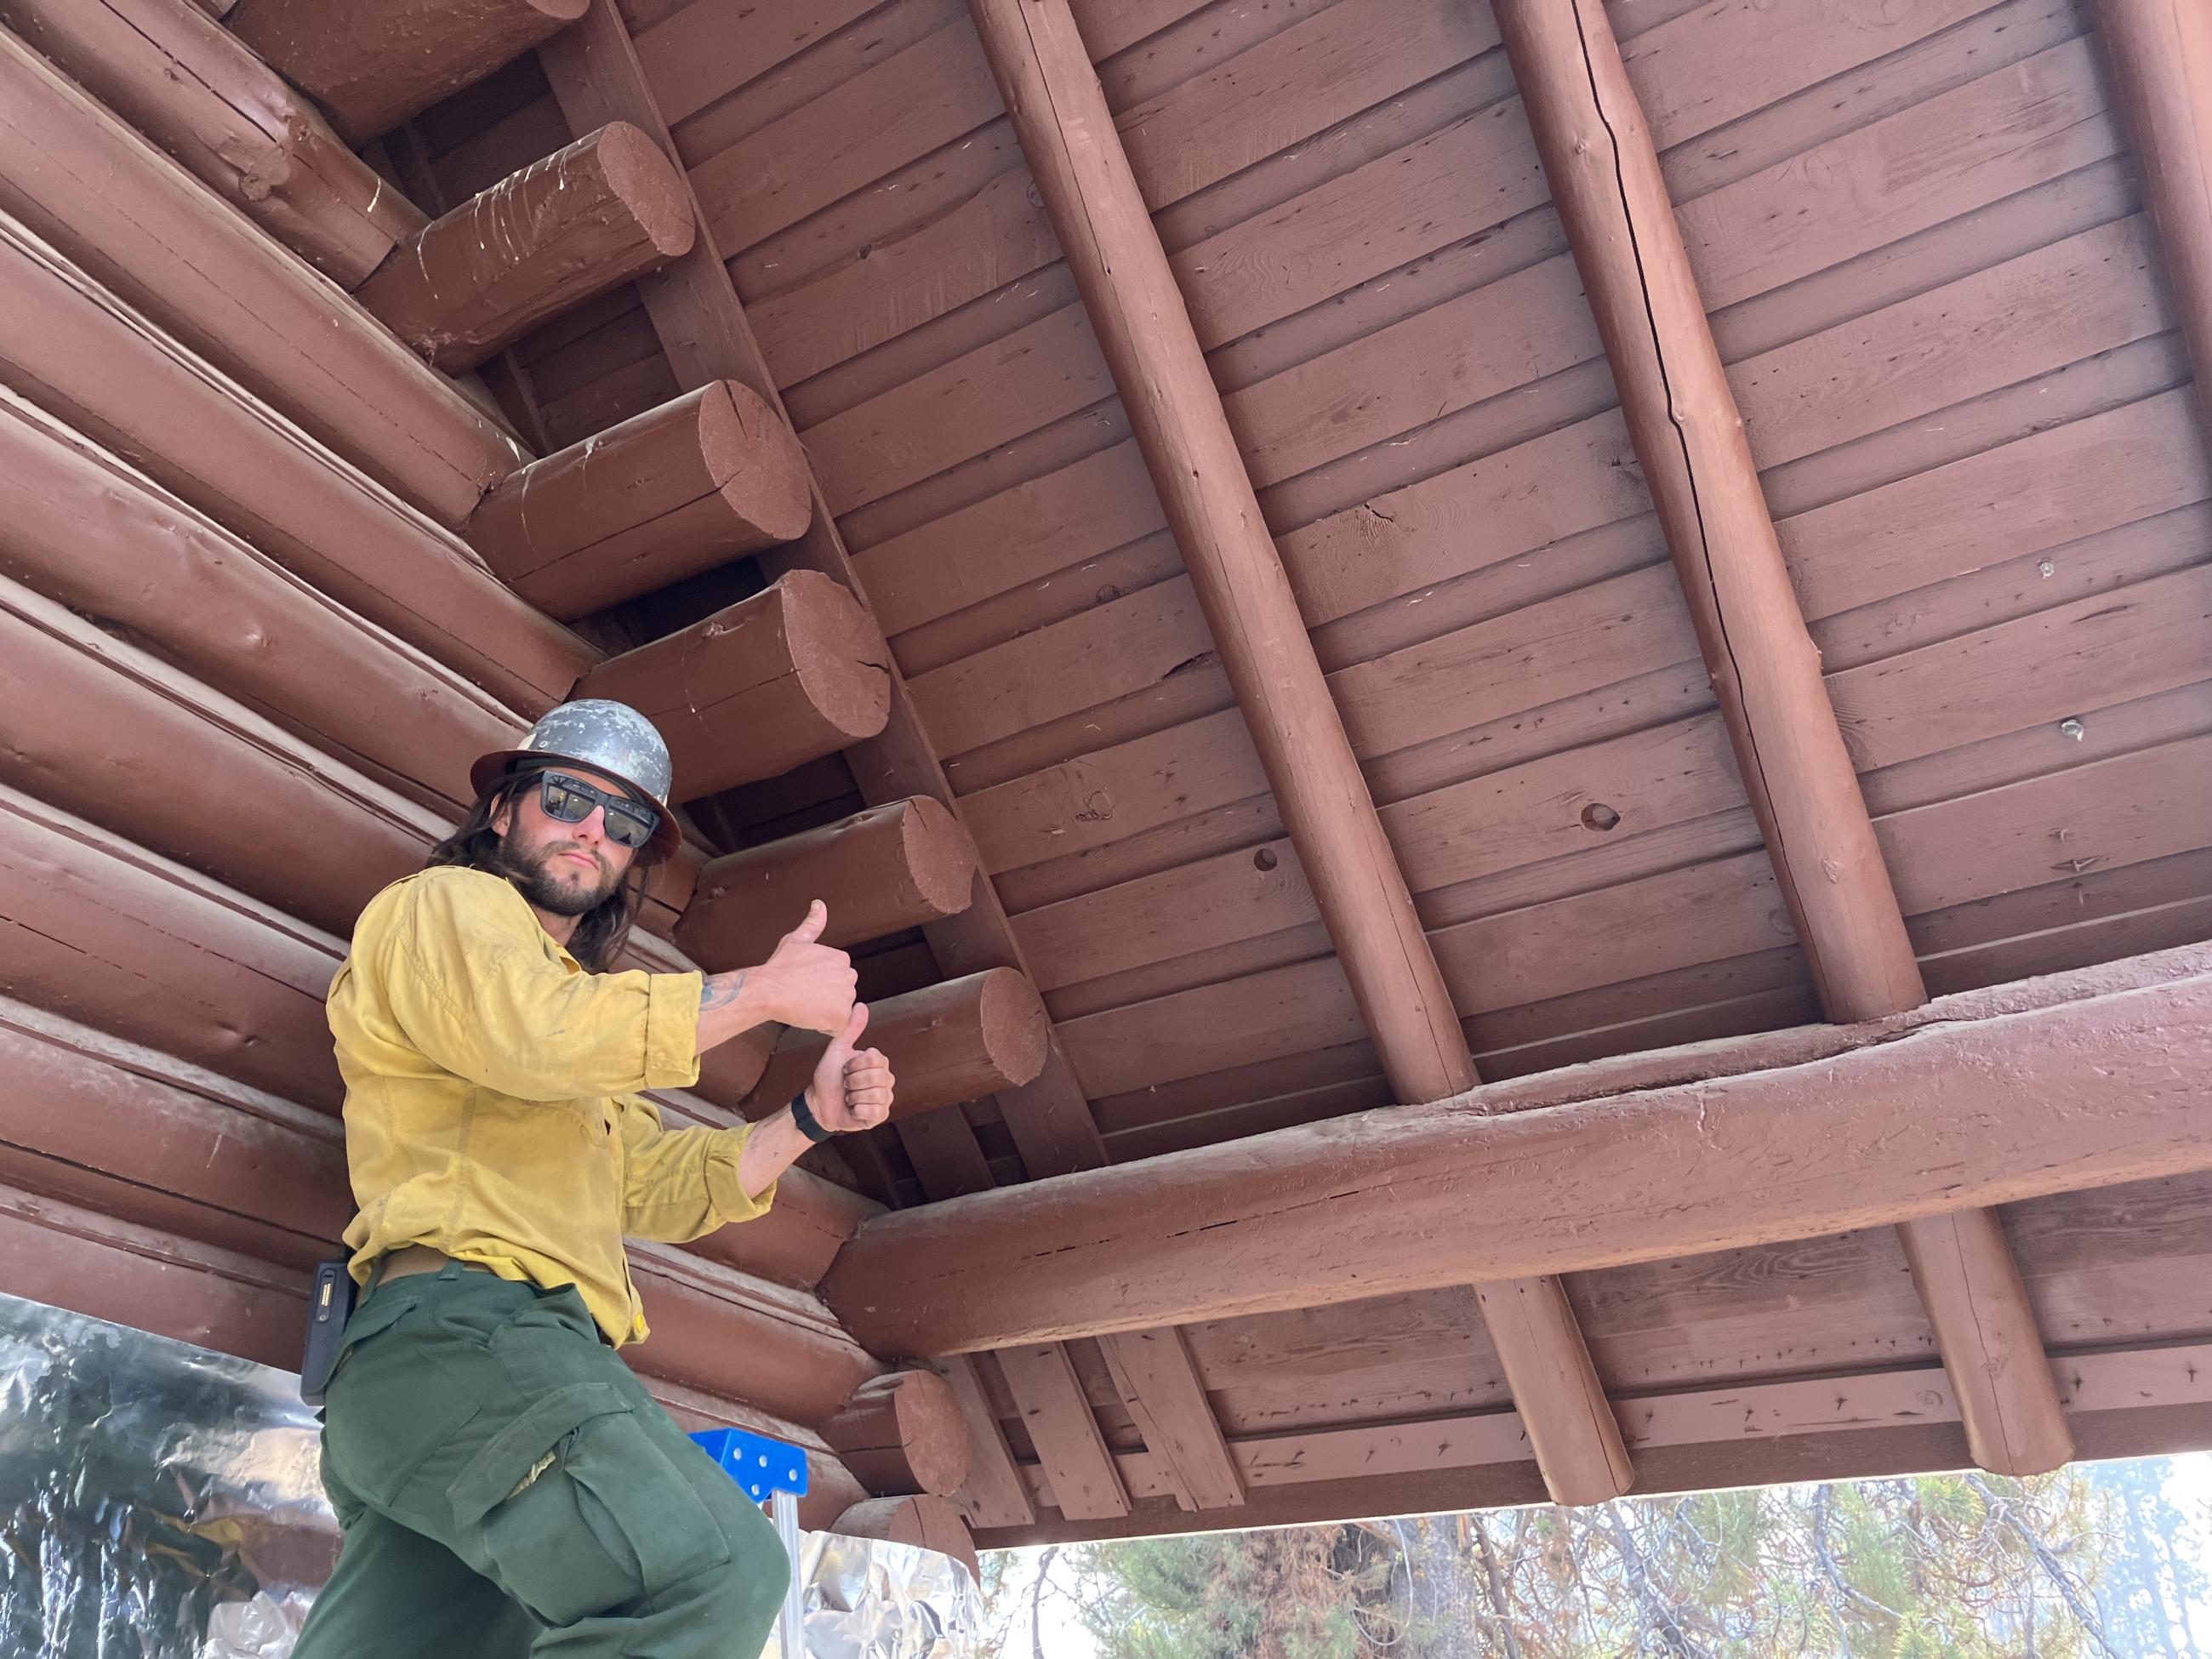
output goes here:
{"type": "Polygon", "coordinates": [[[617,1358],[646,1336],[622,1241],[763,1214],[812,1141],[885,1119],[891,1071],[821,902],[759,967],[615,971],[679,841],[637,710],[564,703],[471,785],[330,987],[365,1298],[323,1427],[345,1546],[296,1657],[750,1657],[783,1548],[617,1358]],[[765,1020],[830,1033],[805,1093],[661,1128],[641,1091],[765,1020]]]}

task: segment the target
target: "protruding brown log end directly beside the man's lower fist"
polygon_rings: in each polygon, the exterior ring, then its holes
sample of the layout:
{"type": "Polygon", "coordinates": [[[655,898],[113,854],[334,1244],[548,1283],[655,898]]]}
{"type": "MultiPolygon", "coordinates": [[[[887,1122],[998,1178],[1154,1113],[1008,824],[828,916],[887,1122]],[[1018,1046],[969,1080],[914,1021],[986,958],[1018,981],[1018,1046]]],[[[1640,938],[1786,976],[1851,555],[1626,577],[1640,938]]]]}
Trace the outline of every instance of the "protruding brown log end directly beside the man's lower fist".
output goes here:
{"type": "MultiPolygon", "coordinates": [[[[1051,1022],[1037,989],[1018,969],[984,969],[869,1004],[865,1042],[898,1073],[891,1117],[914,1117],[1033,1082],[1044,1068],[1051,1022]]],[[[748,1117],[768,1117],[807,1086],[825,1037],[785,1031],[748,1117]]]]}

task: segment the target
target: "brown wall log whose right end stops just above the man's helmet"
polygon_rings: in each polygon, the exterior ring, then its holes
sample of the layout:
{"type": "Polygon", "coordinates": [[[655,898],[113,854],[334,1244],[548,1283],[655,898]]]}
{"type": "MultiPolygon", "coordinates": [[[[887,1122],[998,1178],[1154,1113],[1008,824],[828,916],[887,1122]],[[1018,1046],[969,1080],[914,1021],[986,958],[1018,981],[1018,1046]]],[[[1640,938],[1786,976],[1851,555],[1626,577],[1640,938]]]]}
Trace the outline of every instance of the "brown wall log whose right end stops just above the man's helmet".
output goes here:
{"type": "MultiPolygon", "coordinates": [[[[4,46],[0,38],[0,64],[4,46]]],[[[13,113],[4,97],[0,111],[13,113]]],[[[0,219],[0,378],[524,717],[562,701],[597,655],[456,538],[148,327],[11,219],[0,219]]]]}

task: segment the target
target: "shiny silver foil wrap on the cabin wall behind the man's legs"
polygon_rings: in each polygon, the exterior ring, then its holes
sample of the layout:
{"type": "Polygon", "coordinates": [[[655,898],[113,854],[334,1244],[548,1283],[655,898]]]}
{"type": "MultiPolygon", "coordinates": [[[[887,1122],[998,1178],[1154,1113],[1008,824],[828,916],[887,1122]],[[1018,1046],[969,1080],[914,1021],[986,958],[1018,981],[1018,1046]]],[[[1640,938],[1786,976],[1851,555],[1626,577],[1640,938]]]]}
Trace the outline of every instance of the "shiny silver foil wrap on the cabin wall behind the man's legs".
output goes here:
{"type": "MultiPolygon", "coordinates": [[[[0,1294],[0,1655],[288,1659],[338,1555],[296,1389],[0,1294]]],[[[975,1579],[949,1555],[807,1533],[803,1568],[812,1659],[975,1650],[975,1579]]]]}

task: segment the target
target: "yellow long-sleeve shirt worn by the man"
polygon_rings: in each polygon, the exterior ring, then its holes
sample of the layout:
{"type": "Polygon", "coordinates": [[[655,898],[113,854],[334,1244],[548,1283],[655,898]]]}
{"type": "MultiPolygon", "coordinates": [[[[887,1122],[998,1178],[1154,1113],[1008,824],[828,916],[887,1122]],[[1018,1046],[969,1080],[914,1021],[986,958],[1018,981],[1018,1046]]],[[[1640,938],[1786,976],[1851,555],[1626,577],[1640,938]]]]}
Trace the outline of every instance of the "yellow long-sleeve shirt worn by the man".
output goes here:
{"type": "Polygon", "coordinates": [[[644,1340],[624,1234],[697,1239],[774,1201],[737,1177],[750,1126],[664,1130],[635,1095],[699,1079],[697,1029],[697,973],[586,973],[502,876],[385,887],[330,984],[354,1279],[425,1243],[573,1283],[608,1340],[644,1340]]]}

